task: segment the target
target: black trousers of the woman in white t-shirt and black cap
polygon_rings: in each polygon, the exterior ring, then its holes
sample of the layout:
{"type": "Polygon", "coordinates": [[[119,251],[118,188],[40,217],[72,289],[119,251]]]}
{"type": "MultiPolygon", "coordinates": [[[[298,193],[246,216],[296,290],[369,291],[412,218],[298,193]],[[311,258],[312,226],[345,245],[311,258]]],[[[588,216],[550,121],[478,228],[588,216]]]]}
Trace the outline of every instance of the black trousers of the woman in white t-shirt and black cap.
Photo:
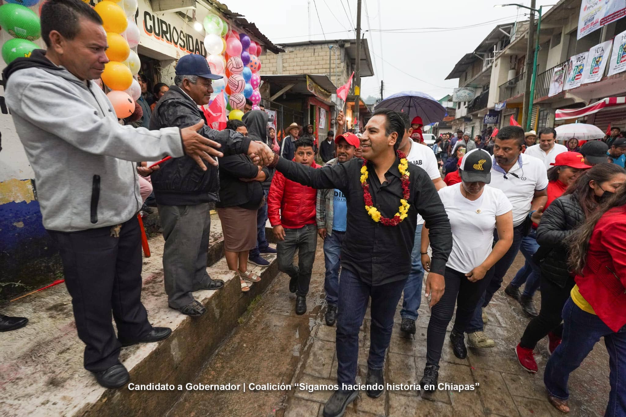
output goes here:
{"type": "Polygon", "coordinates": [[[431,318],[426,333],[426,364],[439,366],[441,349],[446,339],[446,328],[452,319],[456,304],[456,318],[453,330],[463,333],[474,314],[485,288],[491,282],[494,268],[485,274],[485,278],[475,283],[468,280],[464,273],[446,266],[443,278],[446,289],[437,304],[431,308],[431,318]]]}

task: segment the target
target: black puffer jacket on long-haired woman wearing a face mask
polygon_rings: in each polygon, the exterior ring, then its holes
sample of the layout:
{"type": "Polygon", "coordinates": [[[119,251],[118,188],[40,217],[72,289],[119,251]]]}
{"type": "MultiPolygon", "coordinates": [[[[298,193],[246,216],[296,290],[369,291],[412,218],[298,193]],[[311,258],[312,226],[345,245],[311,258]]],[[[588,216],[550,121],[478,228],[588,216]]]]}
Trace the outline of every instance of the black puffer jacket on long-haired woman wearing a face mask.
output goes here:
{"type": "Polygon", "coordinates": [[[567,259],[569,252],[563,244],[565,238],[572,234],[573,229],[585,221],[578,199],[573,194],[560,196],[550,204],[536,231],[538,257],[541,262],[541,278],[549,279],[564,288],[570,277],[567,259]]]}

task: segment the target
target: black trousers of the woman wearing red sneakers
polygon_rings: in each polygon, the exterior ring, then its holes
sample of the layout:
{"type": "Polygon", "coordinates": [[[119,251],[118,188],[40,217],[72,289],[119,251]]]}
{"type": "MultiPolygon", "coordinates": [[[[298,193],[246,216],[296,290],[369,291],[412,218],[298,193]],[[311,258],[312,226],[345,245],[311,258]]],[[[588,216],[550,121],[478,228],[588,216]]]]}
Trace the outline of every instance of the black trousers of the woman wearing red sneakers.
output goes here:
{"type": "Polygon", "coordinates": [[[561,288],[549,279],[540,275],[541,310],[533,318],[520,339],[522,348],[535,349],[536,344],[551,331],[558,337],[563,333],[562,311],[565,302],[570,298],[574,280],[568,279],[565,288],[561,288]]]}

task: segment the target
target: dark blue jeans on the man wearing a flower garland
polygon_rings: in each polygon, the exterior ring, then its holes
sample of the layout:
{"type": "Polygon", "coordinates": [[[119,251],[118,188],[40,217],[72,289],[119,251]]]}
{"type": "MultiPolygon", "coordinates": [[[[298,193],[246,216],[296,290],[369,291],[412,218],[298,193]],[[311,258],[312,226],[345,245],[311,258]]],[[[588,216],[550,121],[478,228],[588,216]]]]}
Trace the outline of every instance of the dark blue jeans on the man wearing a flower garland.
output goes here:
{"type": "Polygon", "coordinates": [[[372,298],[369,326],[369,358],[367,366],[382,369],[385,351],[391,340],[393,316],[400,301],[406,279],[371,286],[356,273],[341,268],[339,278],[339,309],[337,309],[337,382],[355,383],[359,359],[359,328],[372,298]]]}

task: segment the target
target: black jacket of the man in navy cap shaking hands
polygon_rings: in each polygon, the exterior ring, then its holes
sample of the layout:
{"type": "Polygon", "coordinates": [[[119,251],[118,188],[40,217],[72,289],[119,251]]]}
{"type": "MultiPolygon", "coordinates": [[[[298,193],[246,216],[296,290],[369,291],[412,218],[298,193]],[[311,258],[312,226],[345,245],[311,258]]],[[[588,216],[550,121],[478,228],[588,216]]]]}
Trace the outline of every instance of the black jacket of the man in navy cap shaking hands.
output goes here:
{"type": "MultiPolygon", "coordinates": [[[[170,86],[170,91],[156,103],[150,129],[156,130],[178,126],[187,128],[206,120],[204,114],[187,94],[177,86],[170,86]]],[[[217,131],[206,124],[198,131],[205,138],[222,144],[220,152],[224,156],[247,153],[250,139],[240,133],[225,129],[217,131]]],[[[190,156],[172,158],[161,164],[158,171],[154,171],[150,178],[155,191],[156,203],[170,206],[185,206],[218,201],[220,181],[217,167],[208,164],[207,171],[195,163],[190,156]]]]}

